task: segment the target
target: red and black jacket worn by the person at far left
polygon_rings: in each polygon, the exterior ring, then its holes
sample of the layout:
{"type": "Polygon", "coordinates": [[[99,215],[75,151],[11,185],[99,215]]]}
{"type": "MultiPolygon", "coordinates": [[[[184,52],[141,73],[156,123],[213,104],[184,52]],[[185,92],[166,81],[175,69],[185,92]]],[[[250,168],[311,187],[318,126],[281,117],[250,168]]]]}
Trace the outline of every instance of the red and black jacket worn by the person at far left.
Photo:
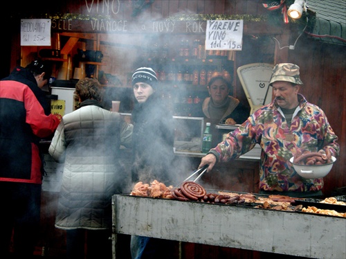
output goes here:
{"type": "Polygon", "coordinates": [[[42,184],[39,140],[60,120],[28,69],[16,67],[0,81],[0,181],[42,184]]]}

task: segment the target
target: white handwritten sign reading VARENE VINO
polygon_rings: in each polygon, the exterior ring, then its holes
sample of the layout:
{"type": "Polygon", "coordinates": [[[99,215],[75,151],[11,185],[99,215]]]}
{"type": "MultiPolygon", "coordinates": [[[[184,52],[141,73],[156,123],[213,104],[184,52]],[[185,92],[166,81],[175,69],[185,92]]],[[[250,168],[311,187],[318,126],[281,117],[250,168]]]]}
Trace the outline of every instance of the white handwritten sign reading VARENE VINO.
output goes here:
{"type": "Polygon", "coordinates": [[[242,51],[243,20],[207,21],[206,50],[242,51]]]}

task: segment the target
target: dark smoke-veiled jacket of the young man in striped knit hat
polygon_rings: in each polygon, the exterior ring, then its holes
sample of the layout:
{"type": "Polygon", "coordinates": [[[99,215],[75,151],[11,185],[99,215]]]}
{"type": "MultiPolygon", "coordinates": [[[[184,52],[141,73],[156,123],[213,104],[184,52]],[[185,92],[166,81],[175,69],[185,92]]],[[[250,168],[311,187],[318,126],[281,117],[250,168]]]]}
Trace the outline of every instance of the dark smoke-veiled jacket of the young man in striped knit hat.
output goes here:
{"type": "Polygon", "coordinates": [[[156,179],[168,185],[172,184],[174,120],[157,92],[149,96],[146,102],[135,105],[132,121],[132,181],[149,184],[156,179]]]}

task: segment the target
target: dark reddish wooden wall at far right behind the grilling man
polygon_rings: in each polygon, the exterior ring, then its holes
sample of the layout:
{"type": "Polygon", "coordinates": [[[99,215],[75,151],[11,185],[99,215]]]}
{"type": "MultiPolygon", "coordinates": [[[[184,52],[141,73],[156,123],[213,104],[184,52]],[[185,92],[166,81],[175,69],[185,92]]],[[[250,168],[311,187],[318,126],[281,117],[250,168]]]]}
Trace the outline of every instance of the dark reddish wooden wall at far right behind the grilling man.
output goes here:
{"type": "Polygon", "coordinates": [[[335,188],[346,186],[346,47],[302,35],[287,61],[300,66],[301,93],[325,111],[338,136],[340,157],[324,178],[325,195],[332,195],[335,188]]]}

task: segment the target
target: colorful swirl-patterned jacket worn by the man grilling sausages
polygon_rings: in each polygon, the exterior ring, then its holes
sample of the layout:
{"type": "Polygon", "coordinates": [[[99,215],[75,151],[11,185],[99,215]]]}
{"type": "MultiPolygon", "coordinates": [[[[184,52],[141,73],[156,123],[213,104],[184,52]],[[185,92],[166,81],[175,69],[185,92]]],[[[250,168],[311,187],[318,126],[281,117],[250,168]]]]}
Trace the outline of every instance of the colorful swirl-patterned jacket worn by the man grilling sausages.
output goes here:
{"type": "Polygon", "coordinates": [[[291,157],[308,150],[317,152],[328,148],[338,157],[340,147],[320,107],[298,95],[300,102],[295,110],[291,127],[286,122],[275,100],[255,111],[239,129],[230,132],[226,140],[210,150],[217,161],[237,159],[251,150],[256,143],[262,148],[260,162],[260,190],[317,191],[323,187],[323,179],[304,179],[295,172],[289,162],[291,157]]]}

